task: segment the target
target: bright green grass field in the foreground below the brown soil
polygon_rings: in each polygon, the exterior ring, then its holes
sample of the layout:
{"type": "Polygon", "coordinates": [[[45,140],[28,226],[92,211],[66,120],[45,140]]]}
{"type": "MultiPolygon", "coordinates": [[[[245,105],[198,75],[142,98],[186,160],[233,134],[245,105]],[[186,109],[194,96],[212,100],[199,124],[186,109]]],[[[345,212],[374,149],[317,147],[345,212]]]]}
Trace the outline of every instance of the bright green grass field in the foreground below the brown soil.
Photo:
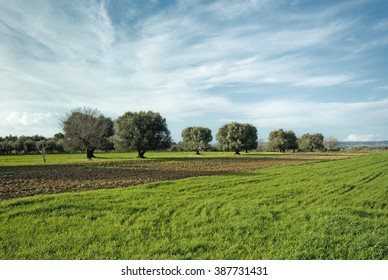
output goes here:
{"type": "Polygon", "coordinates": [[[0,259],[388,259],[387,167],[378,153],[1,201],[0,259]]]}

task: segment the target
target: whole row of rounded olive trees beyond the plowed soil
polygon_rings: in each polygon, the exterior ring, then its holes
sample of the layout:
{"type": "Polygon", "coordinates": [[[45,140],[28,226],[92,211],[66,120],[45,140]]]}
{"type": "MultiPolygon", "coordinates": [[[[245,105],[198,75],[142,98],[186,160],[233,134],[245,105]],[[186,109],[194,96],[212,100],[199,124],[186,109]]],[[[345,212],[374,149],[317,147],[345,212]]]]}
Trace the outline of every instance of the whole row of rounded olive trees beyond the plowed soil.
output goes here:
{"type": "MultiPolygon", "coordinates": [[[[64,134],[56,134],[58,139],[55,141],[37,139],[34,151],[41,153],[43,159],[46,152],[57,142],[60,142],[66,151],[86,151],[88,159],[95,157],[96,150],[114,149],[134,150],[137,151],[138,158],[144,158],[144,154],[149,150],[167,149],[172,145],[166,119],[152,111],[127,112],[113,121],[96,109],[78,108],[67,114],[61,124],[64,134]]],[[[209,128],[188,127],[182,131],[182,139],[181,147],[184,150],[200,154],[210,147],[213,137],[209,128]]],[[[288,149],[323,150],[323,139],[320,133],[305,134],[298,139],[293,131],[279,129],[270,133],[269,149],[280,152],[288,149]]],[[[236,154],[258,147],[257,129],[248,123],[232,122],[221,126],[216,140],[219,149],[234,151],[236,154]]],[[[24,149],[33,149],[28,148],[27,143],[24,143],[24,149]]],[[[1,145],[0,141],[0,151],[6,150],[5,146],[1,145]]]]}

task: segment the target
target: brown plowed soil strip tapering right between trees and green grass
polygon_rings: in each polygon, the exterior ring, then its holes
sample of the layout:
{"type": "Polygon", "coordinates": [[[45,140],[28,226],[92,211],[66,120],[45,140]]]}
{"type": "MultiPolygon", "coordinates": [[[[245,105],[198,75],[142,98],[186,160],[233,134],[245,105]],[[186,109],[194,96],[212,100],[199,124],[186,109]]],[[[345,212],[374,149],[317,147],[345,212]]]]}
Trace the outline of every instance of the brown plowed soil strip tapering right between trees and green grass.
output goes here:
{"type": "Polygon", "coordinates": [[[252,155],[0,167],[0,200],[36,194],[128,187],[156,181],[237,173],[342,157],[347,156],[252,155]]]}

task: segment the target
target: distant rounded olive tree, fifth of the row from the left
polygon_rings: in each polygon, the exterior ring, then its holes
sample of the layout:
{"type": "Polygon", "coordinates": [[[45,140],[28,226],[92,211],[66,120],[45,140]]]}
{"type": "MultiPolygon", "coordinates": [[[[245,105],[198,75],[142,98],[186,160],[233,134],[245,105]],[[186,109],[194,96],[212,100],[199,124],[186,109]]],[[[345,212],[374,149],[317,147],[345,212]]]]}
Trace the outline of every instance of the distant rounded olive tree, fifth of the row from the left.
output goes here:
{"type": "Polygon", "coordinates": [[[292,130],[274,130],[269,134],[268,146],[273,151],[279,150],[285,153],[286,150],[292,149],[295,152],[298,149],[298,138],[292,130]]]}

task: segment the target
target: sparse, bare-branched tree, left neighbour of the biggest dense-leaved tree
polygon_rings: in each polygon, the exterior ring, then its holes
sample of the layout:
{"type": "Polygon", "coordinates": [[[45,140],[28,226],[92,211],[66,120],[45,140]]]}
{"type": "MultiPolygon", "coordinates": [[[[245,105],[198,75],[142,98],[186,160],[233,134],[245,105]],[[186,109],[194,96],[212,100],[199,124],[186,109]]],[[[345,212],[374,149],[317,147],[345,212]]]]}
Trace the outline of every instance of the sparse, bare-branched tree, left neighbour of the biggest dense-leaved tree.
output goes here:
{"type": "Polygon", "coordinates": [[[106,145],[113,135],[113,121],[97,109],[77,108],[61,120],[64,145],[69,150],[86,150],[88,159],[94,151],[106,145]]]}

